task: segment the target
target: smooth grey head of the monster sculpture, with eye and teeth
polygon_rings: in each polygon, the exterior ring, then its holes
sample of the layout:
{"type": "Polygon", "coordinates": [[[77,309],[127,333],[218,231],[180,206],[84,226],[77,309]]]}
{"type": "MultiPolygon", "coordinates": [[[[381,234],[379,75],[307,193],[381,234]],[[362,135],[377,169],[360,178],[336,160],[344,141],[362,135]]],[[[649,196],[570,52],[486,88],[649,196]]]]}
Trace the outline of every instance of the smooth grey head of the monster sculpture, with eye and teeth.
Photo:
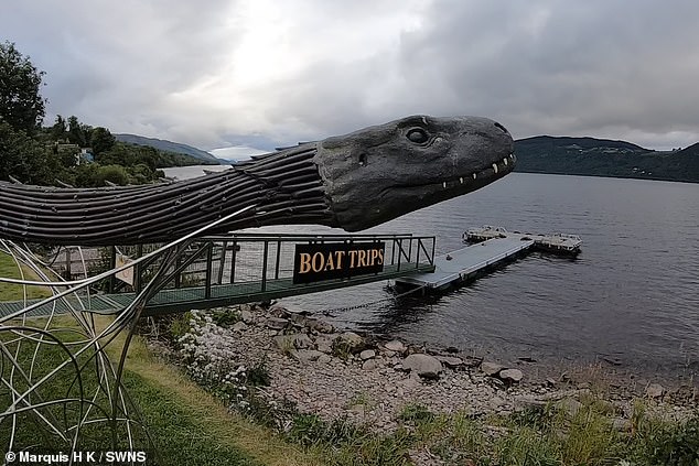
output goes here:
{"type": "Polygon", "coordinates": [[[319,144],[313,159],[336,224],[357,231],[506,175],[513,139],[480,117],[412,116],[319,144]]]}

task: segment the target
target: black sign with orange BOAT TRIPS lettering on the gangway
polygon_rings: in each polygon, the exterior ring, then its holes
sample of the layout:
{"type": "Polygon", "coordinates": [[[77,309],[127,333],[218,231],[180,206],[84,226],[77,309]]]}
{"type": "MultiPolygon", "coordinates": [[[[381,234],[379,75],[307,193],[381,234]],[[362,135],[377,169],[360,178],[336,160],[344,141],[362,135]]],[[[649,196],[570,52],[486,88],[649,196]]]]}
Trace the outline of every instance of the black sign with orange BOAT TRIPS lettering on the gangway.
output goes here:
{"type": "Polygon", "coordinates": [[[293,283],[381,272],[385,249],[380,241],[297,245],[293,283]]]}

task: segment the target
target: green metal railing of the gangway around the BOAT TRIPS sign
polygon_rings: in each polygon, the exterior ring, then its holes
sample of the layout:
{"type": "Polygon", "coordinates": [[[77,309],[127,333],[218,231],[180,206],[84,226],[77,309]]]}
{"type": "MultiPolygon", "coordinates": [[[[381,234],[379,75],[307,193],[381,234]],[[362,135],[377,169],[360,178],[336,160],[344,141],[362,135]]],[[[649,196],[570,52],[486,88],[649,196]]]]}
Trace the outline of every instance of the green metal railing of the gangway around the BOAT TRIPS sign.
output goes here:
{"type": "MultiPolygon", "coordinates": [[[[170,265],[169,278],[162,288],[203,288],[204,299],[212,297],[213,288],[223,284],[250,283],[257,291],[266,292],[270,283],[291,283],[295,245],[372,242],[385,245],[385,271],[400,273],[433,268],[433,236],[229,234],[191,240],[174,264],[170,265]]],[[[154,248],[157,245],[140,245],[120,248],[120,251],[137,258],[154,248]]],[[[112,264],[116,263],[116,254],[117,249],[111,248],[112,264]]],[[[139,292],[159,267],[162,267],[160,257],[141,262],[133,270],[132,284],[128,285],[112,277],[107,291],[139,292]]]]}

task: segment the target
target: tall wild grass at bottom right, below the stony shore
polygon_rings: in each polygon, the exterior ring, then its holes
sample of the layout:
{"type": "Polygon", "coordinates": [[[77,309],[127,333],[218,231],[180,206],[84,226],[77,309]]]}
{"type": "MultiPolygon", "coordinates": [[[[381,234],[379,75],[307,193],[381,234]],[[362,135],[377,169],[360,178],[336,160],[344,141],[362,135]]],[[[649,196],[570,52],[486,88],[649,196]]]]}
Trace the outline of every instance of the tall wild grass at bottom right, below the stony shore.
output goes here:
{"type": "Polygon", "coordinates": [[[593,397],[574,415],[552,405],[478,420],[428,413],[410,404],[400,414],[412,432],[408,446],[447,464],[699,466],[699,412],[667,422],[646,416],[638,402],[628,432],[614,429],[605,403],[593,397]]]}

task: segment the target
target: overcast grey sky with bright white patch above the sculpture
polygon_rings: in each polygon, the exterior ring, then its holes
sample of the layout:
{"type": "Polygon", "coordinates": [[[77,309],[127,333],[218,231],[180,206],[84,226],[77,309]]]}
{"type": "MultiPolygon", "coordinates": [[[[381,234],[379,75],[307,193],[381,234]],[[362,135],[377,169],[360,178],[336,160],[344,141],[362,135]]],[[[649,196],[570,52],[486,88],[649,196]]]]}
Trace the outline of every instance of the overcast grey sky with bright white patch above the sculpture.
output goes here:
{"type": "Polygon", "coordinates": [[[47,123],[269,149],[412,113],[699,141],[699,1],[2,0],[47,123]]]}

